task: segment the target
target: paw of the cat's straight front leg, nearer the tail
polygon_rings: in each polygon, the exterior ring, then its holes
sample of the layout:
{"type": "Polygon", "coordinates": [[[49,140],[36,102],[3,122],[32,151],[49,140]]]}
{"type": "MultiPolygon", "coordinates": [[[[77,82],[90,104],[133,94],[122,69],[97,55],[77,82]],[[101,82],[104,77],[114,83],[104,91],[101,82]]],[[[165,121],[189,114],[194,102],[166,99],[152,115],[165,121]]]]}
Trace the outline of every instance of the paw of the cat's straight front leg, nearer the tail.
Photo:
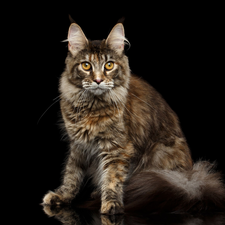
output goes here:
{"type": "Polygon", "coordinates": [[[117,201],[103,202],[101,206],[101,214],[114,215],[123,214],[123,205],[117,201]]]}

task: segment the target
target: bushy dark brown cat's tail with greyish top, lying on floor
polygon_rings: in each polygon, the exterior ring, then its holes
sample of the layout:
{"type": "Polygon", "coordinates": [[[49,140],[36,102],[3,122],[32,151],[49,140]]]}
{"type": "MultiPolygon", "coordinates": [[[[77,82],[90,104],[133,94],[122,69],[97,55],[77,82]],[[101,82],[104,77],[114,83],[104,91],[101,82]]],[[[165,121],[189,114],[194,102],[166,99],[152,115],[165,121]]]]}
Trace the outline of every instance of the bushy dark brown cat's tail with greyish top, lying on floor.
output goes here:
{"type": "Polygon", "coordinates": [[[191,171],[151,170],[126,185],[125,210],[190,212],[225,210],[222,175],[209,162],[194,164],[191,171]]]}

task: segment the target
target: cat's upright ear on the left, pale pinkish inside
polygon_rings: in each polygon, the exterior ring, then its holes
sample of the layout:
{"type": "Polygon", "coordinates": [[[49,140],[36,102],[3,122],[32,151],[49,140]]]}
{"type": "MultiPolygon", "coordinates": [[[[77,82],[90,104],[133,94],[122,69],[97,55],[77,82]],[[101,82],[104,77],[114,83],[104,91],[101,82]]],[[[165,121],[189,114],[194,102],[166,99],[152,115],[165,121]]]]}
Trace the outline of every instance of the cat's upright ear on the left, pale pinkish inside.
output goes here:
{"type": "Polygon", "coordinates": [[[69,42],[69,51],[73,55],[76,55],[80,50],[84,49],[85,46],[88,45],[87,38],[85,37],[80,26],[76,23],[72,23],[70,25],[67,41],[69,42]]]}

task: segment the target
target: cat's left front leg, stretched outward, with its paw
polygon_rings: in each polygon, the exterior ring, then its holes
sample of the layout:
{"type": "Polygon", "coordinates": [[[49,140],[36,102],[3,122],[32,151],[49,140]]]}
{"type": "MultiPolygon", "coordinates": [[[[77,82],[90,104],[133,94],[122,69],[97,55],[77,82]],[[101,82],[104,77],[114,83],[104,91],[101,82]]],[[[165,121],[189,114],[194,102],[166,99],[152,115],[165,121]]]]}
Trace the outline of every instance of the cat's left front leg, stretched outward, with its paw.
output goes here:
{"type": "Polygon", "coordinates": [[[71,148],[65,167],[62,185],[55,192],[48,192],[43,198],[45,205],[69,204],[77,195],[84,178],[84,162],[81,151],[71,148]]]}

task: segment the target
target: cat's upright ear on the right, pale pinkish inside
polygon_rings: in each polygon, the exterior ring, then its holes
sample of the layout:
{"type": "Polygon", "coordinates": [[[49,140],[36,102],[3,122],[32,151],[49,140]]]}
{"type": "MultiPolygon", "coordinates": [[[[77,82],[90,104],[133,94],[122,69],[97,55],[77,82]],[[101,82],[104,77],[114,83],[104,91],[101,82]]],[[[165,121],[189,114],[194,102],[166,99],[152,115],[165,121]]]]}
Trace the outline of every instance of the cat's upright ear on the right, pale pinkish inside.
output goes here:
{"type": "Polygon", "coordinates": [[[121,54],[124,50],[124,41],[127,41],[127,39],[125,38],[123,24],[118,23],[111,30],[106,39],[106,44],[117,53],[121,54]]]}

